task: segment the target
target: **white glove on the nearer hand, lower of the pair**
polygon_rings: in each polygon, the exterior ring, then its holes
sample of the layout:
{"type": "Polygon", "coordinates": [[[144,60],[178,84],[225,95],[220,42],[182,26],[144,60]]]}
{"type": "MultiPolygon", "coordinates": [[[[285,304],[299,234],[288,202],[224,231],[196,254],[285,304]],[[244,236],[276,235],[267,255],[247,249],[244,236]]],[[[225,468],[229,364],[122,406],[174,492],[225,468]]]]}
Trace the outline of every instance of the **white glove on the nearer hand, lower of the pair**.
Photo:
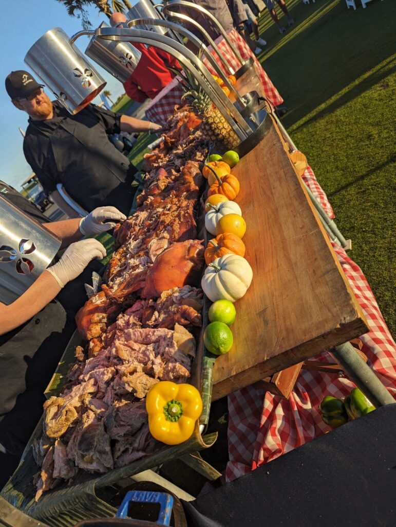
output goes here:
{"type": "Polygon", "coordinates": [[[62,258],[47,271],[52,274],[60,287],[65,287],[67,282],[74,280],[87,267],[94,258],[100,260],[106,256],[106,249],[100,241],[94,238],[80,240],[72,243],[65,250],[62,258]]]}

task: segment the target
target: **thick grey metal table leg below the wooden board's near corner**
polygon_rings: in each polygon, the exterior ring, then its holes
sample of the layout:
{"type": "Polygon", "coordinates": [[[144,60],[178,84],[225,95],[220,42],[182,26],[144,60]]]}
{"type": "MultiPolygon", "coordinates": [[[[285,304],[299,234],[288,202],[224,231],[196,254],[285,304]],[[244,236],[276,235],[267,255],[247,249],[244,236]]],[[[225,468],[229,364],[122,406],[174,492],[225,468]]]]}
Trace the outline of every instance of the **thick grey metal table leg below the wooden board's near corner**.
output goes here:
{"type": "Polygon", "coordinates": [[[347,342],[336,346],[331,350],[331,354],[376,408],[396,403],[373,370],[356,353],[352,344],[347,342]]]}

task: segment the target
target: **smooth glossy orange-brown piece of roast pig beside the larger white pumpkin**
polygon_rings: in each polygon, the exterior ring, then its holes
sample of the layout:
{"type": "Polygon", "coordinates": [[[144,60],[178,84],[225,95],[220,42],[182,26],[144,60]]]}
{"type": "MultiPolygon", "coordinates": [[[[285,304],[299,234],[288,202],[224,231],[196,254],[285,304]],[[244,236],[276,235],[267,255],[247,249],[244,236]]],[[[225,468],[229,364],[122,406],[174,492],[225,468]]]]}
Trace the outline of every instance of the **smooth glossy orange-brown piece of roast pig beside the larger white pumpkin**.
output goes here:
{"type": "Polygon", "coordinates": [[[200,282],[202,267],[204,246],[199,240],[172,243],[150,267],[141,297],[157,298],[173,287],[195,286],[200,282]]]}

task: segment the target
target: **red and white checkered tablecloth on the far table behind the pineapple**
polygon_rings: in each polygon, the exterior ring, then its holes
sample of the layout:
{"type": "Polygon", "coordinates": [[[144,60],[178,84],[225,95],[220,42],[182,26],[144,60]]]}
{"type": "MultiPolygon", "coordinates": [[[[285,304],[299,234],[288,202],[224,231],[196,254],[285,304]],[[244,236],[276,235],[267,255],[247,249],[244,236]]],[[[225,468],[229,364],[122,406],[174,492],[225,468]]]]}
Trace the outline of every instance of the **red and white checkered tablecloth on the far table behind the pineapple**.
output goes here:
{"type": "MultiPolygon", "coordinates": [[[[283,99],[279,95],[278,90],[272,84],[269,76],[262,69],[257,58],[255,57],[255,55],[253,55],[249,46],[246,44],[243,38],[241,38],[241,36],[236,30],[231,30],[230,32],[228,32],[228,36],[230,38],[230,41],[235,44],[235,46],[238,48],[243,60],[247,60],[251,56],[254,58],[256,71],[259,74],[263,90],[267,96],[267,99],[275,106],[281,104],[283,102],[283,99]]],[[[218,37],[215,42],[219,47],[222,55],[226,58],[228,64],[232,67],[234,71],[237,71],[240,67],[240,62],[232,53],[230,47],[228,46],[224,38],[222,36],[218,37]]],[[[220,64],[220,60],[214,51],[212,51],[212,54],[215,56],[216,61],[220,64]]],[[[204,63],[206,64],[206,66],[209,66],[205,59],[204,63]]],[[[220,66],[222,67],[221,64],[220,66]]],[[[209,71],[215,73],[210,67],[209,71]]],[[[178,82],[177,77],[175,77],[175,79],[172,80],[172,82],[170,82],[163,90],[161,90],[159,94],[155,97],[155,99],[153,99],[153,101],[151,101],[150,104],[146,107],[146,118],[149,121],[153,121],[155,123],[164,125],[168,117],[172,115],[172,113],[174,113],[175,105],[180,104],[180,99],[183,93],[184,91],[181,87],[181,84],[178,82]]]]}

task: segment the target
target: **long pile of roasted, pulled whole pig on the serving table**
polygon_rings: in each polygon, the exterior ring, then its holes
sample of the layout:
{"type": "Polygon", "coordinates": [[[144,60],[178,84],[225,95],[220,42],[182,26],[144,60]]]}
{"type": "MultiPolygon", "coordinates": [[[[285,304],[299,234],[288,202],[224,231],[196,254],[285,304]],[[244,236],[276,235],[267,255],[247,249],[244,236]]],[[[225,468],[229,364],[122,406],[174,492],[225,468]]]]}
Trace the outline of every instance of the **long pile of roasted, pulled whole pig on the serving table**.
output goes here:
{"type": "Polygon", "coordinates": [[[43,435],[32,445],[38,499],[79,470],[104,473],[161,448],[151,436],[148,390],[188,381],[202,325],[197,286],[204,247],[195,213],[208,142],[187,108],[169,120],[164,142],[145,159],[138,209],[115,229],[103,291],[76,316],[88,341],[76,349],[67,384],[44,404],[43,435]]]}

